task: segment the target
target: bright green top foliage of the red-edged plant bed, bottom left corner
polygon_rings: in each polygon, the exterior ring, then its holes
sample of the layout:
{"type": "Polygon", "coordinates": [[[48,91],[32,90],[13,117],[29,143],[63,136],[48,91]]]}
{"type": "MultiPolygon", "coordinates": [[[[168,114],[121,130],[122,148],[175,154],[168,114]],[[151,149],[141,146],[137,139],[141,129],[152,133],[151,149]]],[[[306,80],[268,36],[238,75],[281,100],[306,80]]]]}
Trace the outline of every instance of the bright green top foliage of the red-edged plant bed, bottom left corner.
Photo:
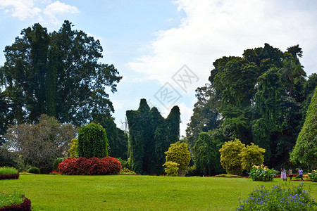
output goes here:
{"type": "Polygon", "coordinates": [[[23,200],[23,193],[20,193],[18,191],[14,191],[13,193],[2,191],[0,192],[0,210],[5,210],[4,207],[6,206],[20,205],[23,203],[23,200]]]}

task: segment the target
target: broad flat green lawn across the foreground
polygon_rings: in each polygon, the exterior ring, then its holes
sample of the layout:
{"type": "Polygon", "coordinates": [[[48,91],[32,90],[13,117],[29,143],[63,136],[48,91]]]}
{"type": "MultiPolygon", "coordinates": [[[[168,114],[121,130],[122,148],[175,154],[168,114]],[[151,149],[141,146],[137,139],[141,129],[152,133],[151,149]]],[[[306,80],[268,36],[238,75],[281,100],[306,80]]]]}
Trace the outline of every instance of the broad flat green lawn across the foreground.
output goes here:
{"type": "MultiPolygon", "coordinates": [[[[279,183],[281,179],[24,174],[0,180],[0,191],[23,191],[34,210],[235,210],[239,198],[247,198],[255,186],[279,183]]],[[[316,199],[317,183],[304,184],[316,199]]]]}

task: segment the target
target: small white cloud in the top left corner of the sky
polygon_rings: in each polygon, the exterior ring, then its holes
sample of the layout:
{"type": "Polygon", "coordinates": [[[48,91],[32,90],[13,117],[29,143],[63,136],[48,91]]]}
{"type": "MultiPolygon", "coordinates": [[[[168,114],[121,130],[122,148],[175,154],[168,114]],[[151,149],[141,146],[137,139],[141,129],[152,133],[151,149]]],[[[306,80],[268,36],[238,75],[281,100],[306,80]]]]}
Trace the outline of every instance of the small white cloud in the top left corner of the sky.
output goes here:
{"type": "MultiPolygon", "coordinates": [[[[79,13],[77,7],[60,1],[46,0],[0,0],[0,10],[19,20],[32,18],[35,21],[59,25],[62,22],[58,19],[61,15],[79,13]]],[[[62,19],[62,18],[61,18],[62,19]]]]}

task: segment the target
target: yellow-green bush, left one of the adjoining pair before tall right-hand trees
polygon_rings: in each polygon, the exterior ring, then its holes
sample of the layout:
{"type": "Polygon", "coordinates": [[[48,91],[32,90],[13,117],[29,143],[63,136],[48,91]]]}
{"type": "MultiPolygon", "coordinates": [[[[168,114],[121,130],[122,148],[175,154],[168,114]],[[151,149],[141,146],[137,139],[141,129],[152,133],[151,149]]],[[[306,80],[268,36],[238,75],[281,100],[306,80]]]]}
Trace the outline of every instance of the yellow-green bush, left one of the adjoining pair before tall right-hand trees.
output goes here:
{"type": "Polygon", "coordinates": [[[221,146],[220,162],[228,174],[242,175],[242,161],[240,153],[245,148],[245,144],[241,143],[239,139],[235,141],[228,141],[221,146]]]}

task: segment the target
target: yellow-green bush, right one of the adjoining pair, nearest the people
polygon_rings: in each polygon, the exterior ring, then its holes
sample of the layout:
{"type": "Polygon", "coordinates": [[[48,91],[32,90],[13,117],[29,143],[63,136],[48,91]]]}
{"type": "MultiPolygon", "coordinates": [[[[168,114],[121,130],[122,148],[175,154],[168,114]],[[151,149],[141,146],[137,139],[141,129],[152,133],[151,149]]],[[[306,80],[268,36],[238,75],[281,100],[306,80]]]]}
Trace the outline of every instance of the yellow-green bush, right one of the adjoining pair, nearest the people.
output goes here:
{"type": "Polygon", "coordinates": [[[251,170],[253,165],[262,165],[266,150],[251,143],[250,146],[242,148],[240,158],[242,162],[242,170],[251,170]]]}

